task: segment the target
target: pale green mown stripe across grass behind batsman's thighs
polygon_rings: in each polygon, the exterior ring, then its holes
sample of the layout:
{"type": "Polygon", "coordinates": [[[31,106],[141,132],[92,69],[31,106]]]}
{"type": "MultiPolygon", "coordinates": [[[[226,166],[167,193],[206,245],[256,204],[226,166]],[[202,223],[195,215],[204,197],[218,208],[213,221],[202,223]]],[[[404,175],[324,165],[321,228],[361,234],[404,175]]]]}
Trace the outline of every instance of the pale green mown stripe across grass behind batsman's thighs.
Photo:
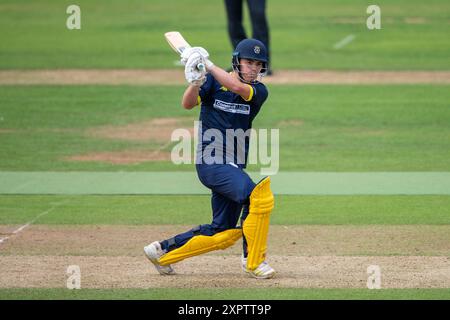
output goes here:
{"type": "MultiPolygon", "coordinates": [[[[450,172],[279,172],[271,180],[280,195],[450,195],[450,172]]],[[[210,192],[195,172],[0,172],[2,194],[210,192]]]]}

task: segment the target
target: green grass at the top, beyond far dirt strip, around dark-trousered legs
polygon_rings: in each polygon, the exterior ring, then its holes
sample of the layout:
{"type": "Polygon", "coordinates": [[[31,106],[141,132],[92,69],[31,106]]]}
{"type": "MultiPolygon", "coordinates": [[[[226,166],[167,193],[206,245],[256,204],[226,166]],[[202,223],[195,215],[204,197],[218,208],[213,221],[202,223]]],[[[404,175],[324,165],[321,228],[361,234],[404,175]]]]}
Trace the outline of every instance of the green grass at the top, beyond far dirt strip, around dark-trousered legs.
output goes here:
{"type": "MultiPolygon", "coordinates": [[[[229,65],[232,50],[222,1],[79,0],[81,30],[66,28],[70,4],[3,0],[0,68],[170,68],[176,55],[163,33],[171,30],[206,47],[218,65],[229,65]]],[[[450,69],[448,1],[380,0],[382,29],[375,31],[366,28],[369,4],[268,2],[274,68],[450,69]],[[423,23],[407,23],[407,18],[417,17],[423,23]],[[352,43],[333,49],[349,34],[356,36],[352,43]]],[[[251,30],[248,20],[245,25],[251,30]]]]}

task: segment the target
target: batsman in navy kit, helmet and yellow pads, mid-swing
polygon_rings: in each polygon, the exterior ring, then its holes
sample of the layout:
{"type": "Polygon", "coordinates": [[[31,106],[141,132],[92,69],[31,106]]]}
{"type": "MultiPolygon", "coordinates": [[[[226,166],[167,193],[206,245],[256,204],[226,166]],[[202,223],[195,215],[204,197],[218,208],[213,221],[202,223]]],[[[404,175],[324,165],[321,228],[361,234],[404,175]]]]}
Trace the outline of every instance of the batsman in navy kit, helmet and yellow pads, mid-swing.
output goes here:
{"type": "Polygon", "coordinates": [[[274,197],[270,177],[255,184],[244,171],[250,137],[230,129],[249,132],[267,99],[260,82],[267,72],[267,49],[261,41],[242,40],[232,56],[231,73],[214,65],[201,47],[181,55],[189,86],[182,105],[201,105],[196,170],[203,185],[211,189],[212,222],[144,247],[147,258],[162,275],[174,274],[172,264],[212,250],[225,249],[243,237],[242,268],[258,279],[275,270],[266,262],[267,235],[274,197]],[[199,70],[199,65],[206,68],[199,70]],[[208,139],[208,132],[216,133],[208,139]],[[247,131],[248,130],[248,131],[247,131]],[[217,136],[220,133],[221,137],[217,136]],[[231,141],[230,141],[231,140],[231,141]],[[239,217],[241,226],[237,227],[239,217]]]}

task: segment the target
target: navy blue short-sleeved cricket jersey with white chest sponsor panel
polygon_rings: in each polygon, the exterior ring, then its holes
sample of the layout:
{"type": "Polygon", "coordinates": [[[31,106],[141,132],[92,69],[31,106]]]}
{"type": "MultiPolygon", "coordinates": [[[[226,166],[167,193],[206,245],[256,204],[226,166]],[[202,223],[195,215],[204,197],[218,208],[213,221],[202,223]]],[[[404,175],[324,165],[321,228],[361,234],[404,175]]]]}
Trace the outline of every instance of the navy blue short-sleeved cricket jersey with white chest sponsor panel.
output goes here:
{"type": "Polygon", "coordinates": [[[211,74],[206,75],[206,82],[199,92],[201,127],[196,163],[233,162],[241,168],[246,167],[250,141],[248,129],[268,96],[263,83],[249,85],[252,92],[249,99],[244,100],[223,87],[211,74]]]}

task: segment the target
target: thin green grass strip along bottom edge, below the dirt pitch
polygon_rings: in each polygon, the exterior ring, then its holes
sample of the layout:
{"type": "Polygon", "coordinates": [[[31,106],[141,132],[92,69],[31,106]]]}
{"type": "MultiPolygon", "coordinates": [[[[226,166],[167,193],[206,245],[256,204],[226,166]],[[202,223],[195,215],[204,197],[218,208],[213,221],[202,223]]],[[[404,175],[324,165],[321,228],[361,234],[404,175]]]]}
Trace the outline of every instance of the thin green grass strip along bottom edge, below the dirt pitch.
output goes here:
{"type": "Polygon", "coordinates": [[[448,300],[450,289],[0,289],[0,300],[448,300]]]}

